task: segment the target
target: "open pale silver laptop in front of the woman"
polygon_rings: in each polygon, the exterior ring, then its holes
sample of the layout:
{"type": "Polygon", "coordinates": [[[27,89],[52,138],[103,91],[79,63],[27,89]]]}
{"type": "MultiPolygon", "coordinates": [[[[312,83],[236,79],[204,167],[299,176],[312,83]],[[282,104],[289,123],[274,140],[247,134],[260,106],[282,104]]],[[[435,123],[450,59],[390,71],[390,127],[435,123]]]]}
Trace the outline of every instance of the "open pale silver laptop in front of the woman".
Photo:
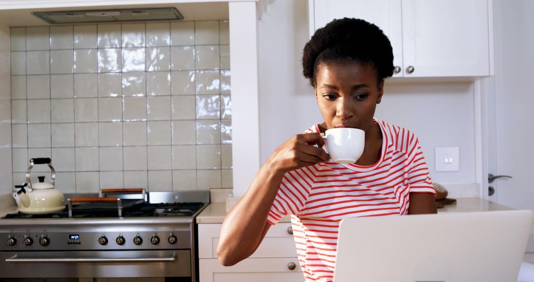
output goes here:
{"type": "Polygon", "coordinates": [[[341,221],[334,282],[512,282],[534,212],[443,213],[341,221]]]}

